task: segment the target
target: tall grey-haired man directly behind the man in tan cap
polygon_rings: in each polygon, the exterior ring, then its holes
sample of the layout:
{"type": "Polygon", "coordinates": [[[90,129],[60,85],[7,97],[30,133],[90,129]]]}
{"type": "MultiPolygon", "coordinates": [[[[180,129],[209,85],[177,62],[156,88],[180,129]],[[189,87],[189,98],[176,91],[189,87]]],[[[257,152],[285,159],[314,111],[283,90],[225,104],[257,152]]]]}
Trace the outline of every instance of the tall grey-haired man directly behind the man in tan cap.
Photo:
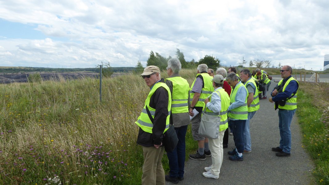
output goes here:
{"type": "Polygon", "coordinates": [[[165,79],[165,84],[172,94],[170,124],[174,125],[178,144],[173,151],[167,151],[170,170],[169,175],[165,175],[165,180],[174,184],[184,179],[185,135],[190,123],[190,85],[179,75],[181,69],[182,64],[177,58],[168,60],[167,74],[169,78],[165,79]]]}

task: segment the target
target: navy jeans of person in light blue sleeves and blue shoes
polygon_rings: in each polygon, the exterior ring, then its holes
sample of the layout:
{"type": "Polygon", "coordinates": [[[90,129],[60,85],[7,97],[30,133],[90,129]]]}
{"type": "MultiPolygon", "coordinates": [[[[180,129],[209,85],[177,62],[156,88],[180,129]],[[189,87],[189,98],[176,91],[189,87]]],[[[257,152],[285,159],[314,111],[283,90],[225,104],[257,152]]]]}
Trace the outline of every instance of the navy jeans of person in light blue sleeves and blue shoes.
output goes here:
{"type": "Polygon", "coordinates": [[[243,131],[246,125],[246,120],[229,120],[231,122],[231,126],[233,129],[233,140],[235,147],[237,148],[239,153],[243,153],[243,131]]]}

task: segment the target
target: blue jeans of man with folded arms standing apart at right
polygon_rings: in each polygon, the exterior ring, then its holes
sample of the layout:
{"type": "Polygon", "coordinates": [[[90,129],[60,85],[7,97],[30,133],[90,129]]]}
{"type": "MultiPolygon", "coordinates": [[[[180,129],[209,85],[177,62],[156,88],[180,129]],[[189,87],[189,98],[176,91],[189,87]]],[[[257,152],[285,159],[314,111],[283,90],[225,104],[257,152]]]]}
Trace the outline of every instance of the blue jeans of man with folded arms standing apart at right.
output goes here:
{"type": "Polygon", "coordinates": [[[291,150],[291,120],[295,114],[294,110],[279,109],[280,146],[283,152],[290,153],[291,150]]]}

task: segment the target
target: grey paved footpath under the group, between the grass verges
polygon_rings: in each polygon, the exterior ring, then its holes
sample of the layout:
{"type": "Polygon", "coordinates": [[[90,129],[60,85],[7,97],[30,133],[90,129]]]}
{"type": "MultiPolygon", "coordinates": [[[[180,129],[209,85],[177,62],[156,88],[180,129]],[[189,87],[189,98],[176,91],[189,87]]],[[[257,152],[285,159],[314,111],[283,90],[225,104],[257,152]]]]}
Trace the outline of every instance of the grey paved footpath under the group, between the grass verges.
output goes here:
{"type": "MultiPolygon", "coordinates": [[[[269,93],[277,83],[272,82],[269,93]]],[[[291,156],[277,157],[272,147],[279,146],[278,110],[268,99],[260,100],[260,109],[250,121],[252,151],[243,154],[243,161],[230,161],[227,151],[235,148],[233,136],[229,136],[228,148],[224,148],[224,159],[218,179],[202,175],[204,167],[211,165],[211,157],[204,161],[187,159],[184,180],[178,184],[315,184],[312,175],[313,162],[302,147],[300,125],[294,115],[291,123],[291,156]]],[[[166,182],[166,184],[172,184],[166,182]]]]}

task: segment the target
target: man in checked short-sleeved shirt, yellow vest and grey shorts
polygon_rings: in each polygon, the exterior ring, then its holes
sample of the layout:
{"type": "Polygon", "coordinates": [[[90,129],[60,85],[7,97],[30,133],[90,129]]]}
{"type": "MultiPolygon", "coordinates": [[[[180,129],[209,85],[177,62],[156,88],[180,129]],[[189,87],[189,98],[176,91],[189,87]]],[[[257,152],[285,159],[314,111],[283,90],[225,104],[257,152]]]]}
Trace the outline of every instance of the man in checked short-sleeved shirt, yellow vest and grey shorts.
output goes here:
{"type": "Polygon", "coordinates": [[[214,91],[212,77],[207,73],[208,66],[200,64],[197,68],[197,73],[194,82],[190,88],[191,107],[189,110],[190,116],[194,116],[193,109],[199,112],[192,120],[192,136],[195,141],[198,141],[199,149],[195,154],[190,154],[189,158],[193,160],[206,160],[206,156],[211,156],[209,150],[208,139],[199,134],[199,126],[201,122],[201,112],[205,106],[204,100],[214,91]]]}

